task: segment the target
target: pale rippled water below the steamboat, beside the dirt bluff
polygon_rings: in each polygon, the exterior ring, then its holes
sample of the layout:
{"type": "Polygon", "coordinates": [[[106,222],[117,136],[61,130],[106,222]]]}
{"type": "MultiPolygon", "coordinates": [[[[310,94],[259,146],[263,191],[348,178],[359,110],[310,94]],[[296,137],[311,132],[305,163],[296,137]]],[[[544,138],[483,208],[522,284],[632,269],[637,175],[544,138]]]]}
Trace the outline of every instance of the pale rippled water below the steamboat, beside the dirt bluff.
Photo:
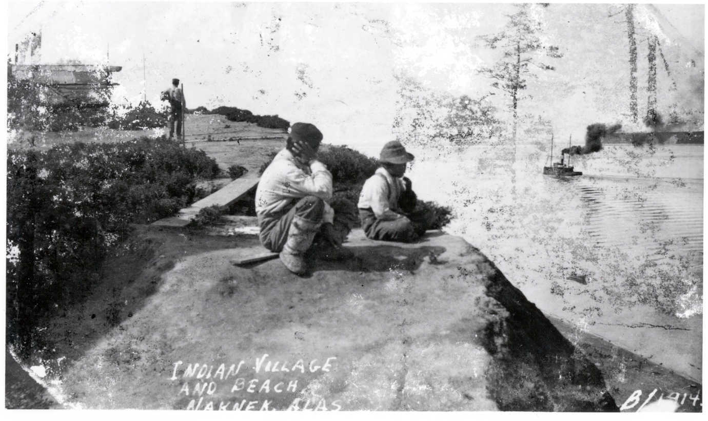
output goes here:
{"type": "Polygon", "coordinates": [[[515,162],[418,153],[418,196],[452,206],[448,230],[545,313],[701,378],[702,145],[609,145],[566,179],[542,175],[547,152],[530,145],[515,162]]]}

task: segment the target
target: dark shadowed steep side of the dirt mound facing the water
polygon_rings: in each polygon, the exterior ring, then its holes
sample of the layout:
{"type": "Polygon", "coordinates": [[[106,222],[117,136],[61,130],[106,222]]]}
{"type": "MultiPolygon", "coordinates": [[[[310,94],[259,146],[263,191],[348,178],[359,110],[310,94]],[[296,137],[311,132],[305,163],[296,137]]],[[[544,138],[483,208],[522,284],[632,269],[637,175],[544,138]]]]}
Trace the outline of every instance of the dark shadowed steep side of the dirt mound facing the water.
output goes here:
{"type": "Polygon", "coordinates": [[[618,411],[600,370],[576,352],[543,313],[489,264],[494,274],[486,294],[498,304],[491,305],[488,313],[506,313],[486,326],[483,341],[494,359],[487,376],[489,393],[499,408],[618,411]]]}

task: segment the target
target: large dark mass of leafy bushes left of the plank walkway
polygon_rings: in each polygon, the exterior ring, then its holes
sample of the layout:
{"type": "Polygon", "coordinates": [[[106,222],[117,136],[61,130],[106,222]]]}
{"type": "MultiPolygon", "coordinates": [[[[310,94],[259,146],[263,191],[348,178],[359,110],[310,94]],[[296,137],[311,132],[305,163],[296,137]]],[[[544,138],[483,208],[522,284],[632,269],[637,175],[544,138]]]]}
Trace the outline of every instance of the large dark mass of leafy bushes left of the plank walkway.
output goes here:
{"type": "Polygon", "coordinates": [[[172,215],[217,174],[205,152],[164,138],[8,150],[8,341],[36,349],[38,320],[89,291],[130,224],[172,215]]]}

